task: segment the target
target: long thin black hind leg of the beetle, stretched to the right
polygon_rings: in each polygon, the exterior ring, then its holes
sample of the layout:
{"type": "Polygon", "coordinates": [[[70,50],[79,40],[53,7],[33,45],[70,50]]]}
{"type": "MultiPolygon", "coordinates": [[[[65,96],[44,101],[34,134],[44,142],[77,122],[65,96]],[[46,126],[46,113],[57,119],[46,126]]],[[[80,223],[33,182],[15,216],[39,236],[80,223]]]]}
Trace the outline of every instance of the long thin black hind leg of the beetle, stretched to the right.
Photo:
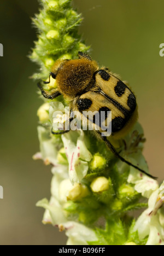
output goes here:
{"type": "Polygon", "coordinates": [[[149,176],[149,177],[152,178],[152,179],[157,179],[157,177],[152,176],[151,174],[149,174],[149,173],[145,172],[144,170],[140,169],[138,166],[133,165],[131,162],[128,162],[127,160],[125,160],[124,158],[122,158],[122,156],[116,151],[116,149],[114,148],[114,146],[108,141],[107,137],[105,137],[105,136],[101,136],[101,137],[102,137],[103,141],[106,142],[107,147],[108,147],[108,148],[113,152],[113,154],[114,154],[117,158],[119,158],[122,162],[125,162],[127,165],[130,165],[130,166],[136,168],[138,171],[140,171],[140,172],[146,174],[147,176],[149,176]]]}

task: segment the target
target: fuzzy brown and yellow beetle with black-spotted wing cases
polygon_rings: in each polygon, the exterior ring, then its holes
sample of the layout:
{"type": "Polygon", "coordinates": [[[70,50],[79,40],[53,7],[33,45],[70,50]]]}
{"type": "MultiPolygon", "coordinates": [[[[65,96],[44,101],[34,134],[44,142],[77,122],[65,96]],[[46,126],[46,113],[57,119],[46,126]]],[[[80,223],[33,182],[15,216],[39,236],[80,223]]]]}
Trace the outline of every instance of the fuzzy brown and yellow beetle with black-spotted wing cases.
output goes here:
{"type": "MultiPolygon", "coordinates": [[[[76,111],[83,115],[85,110],[92,112],[101,110],[112,111],[112,137],[119,139],[126,135],[132,128],[138,117],[136,97],[133,92],[119,78],[109,72],[108,68],[99,69],[96,61],[85,53],[79,51],[79,59],[76,60],[58,60],[52,67],[50,77],[56,79],[57,89],[50,92],[43,89],[41,83],[38,87],[45,98],[53,100],[59,95],[67,98],[70,102],[70,122],[71,114],[76,111]]],[[[83,115],[83,118],[84,117],[83,115]]],[[[65,133],[62,131],[60,133],[65,133]]],[[[56,134],[55,132],[52,132],[56,134]]],[[[102,136],[101,131],[95,130],[95,133],[101,138],[113,154],[126,164],[133,166],[142,173],[151,178],[151,174],[145,172],[138,166],[133,165],[116,151],[113,144],[107,136],[102,136]]],[[[57,133],[58,134],[58,133],[57,133]]]]}

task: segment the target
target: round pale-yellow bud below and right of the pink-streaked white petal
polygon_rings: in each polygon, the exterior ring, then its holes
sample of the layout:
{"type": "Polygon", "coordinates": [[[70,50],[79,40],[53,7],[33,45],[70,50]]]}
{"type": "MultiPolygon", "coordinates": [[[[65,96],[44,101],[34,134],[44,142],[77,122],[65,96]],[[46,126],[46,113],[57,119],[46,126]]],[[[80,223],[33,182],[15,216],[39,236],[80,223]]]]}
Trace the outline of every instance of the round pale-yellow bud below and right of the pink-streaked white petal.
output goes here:
{"type": "Polygon", "coordinates": [[[90,185],[93,192],[98,193],[109,189],[109,181],[106,177],[94,179],[90,185]]]}

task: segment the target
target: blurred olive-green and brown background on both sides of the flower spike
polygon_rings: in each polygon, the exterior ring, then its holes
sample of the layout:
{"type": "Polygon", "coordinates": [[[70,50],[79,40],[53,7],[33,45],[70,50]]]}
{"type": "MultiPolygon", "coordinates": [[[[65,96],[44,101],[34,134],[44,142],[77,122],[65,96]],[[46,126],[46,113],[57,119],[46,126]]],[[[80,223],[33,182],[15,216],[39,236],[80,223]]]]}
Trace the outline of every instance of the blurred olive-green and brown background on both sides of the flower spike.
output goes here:
{"type": "MultiPolygon", "coordinates": [[[[150,172],[163,179],[164,43],[163,0],[74,0],[83,13],[80,32],[92,45],[92,57],[127,80],[136,92],[139,121],[144,127],[144,155],[150,172]]],[[[65,245],[66,237],[44,226],[43,209],[35,206],[50,197],[50,167],[33,161],[39,150],[36,112],[42,101],[30,75],[36,65],[27,55],[36,39],[30,17],[37,0],[0,3],[1,174],[0,245],[65,245]]]]}

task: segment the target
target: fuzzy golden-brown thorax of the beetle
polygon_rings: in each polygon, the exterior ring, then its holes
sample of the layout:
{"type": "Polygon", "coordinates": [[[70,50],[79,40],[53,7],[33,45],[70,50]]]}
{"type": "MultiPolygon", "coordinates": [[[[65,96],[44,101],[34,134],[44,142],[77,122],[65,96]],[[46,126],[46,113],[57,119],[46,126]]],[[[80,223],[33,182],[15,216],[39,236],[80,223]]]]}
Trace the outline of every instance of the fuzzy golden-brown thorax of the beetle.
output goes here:
{"type": "Polygon", "coordinates": [[[97,69],[95,61],[81,59],[57,62],[51,71],[56,76],[58,90],[67,97],[75,97],[90,85],[97,69]]]}

